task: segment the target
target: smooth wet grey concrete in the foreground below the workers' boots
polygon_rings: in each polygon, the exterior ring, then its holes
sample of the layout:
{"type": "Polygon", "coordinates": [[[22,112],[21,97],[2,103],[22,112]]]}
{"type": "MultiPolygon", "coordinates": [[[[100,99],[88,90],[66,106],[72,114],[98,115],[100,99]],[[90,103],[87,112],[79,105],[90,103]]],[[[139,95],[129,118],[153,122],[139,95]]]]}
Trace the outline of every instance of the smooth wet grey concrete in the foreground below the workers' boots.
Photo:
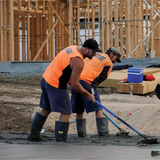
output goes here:
{"type": "Polygon", "coordinates": [[[105,159],[105,160],[152,160],[160,155],[151,156],[155,147],[141,148],[132,146],[74,146],[57,145],[16,145],[0,143],[0,160],[8,159],[105,159]]]}

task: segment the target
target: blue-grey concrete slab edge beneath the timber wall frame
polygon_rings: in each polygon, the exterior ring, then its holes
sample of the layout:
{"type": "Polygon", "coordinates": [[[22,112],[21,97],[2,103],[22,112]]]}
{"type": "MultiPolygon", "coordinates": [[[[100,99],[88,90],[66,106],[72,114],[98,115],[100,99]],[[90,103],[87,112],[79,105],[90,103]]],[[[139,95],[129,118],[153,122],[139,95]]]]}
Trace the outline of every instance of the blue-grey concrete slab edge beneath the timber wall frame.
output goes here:
{"type": "MultiPolygon", "coordinates": [[[[50,61],[37,61],[37,62],[0,62],[0,72],[44,72],[50,61]]],[[[114,66],[118,65],[133,65],[136,68],[147,67],[153,64],[160,64],[160,58],[141,58],[141,59],[122,59],[121,63],[116,63],[114,66]]]]}

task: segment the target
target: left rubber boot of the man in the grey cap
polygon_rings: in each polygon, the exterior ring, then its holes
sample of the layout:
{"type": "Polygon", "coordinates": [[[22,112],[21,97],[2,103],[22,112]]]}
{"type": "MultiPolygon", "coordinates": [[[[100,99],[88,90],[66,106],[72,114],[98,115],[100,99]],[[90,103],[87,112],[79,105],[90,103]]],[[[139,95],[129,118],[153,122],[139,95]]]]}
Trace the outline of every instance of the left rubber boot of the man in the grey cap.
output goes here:
{"type": "Polygon", "coordinates": [[[76,120],[77,133],[79,137],[86,137],[86,119],[76,120]]]}

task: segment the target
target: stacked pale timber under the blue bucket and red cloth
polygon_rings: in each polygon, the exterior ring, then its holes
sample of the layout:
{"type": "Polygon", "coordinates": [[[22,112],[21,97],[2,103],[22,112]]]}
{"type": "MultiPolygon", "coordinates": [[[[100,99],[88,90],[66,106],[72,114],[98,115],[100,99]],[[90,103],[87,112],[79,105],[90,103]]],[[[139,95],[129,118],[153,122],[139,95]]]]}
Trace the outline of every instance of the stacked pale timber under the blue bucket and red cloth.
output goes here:
{"type": "Polygon", "coordinates": [[[127,70],[111,72],[109,77],[99,87],[117,88],[119,93],[146,94],[155,90],[160,81],[160,68],[143,68],[144,75],[153,74],[154,81],[143,81],[142,83],[124,83],[127,79],[127,70]]]}

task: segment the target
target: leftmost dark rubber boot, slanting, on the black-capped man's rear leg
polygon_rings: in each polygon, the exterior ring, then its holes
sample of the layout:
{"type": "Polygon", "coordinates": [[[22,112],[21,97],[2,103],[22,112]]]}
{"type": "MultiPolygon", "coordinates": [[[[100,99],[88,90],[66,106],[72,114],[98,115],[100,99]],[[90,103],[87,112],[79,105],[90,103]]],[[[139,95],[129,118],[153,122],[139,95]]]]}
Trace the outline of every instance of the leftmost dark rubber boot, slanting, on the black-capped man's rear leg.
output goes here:
{"type": "Polygon", "coordinates": [[[34,119],[32,121],[31,131],[27,137],[29,141],[42,141],[42,137],[40,135],[41,129],[46,121],[47,117],[42,116],[38,112],[36,112],[34,119]]]}

